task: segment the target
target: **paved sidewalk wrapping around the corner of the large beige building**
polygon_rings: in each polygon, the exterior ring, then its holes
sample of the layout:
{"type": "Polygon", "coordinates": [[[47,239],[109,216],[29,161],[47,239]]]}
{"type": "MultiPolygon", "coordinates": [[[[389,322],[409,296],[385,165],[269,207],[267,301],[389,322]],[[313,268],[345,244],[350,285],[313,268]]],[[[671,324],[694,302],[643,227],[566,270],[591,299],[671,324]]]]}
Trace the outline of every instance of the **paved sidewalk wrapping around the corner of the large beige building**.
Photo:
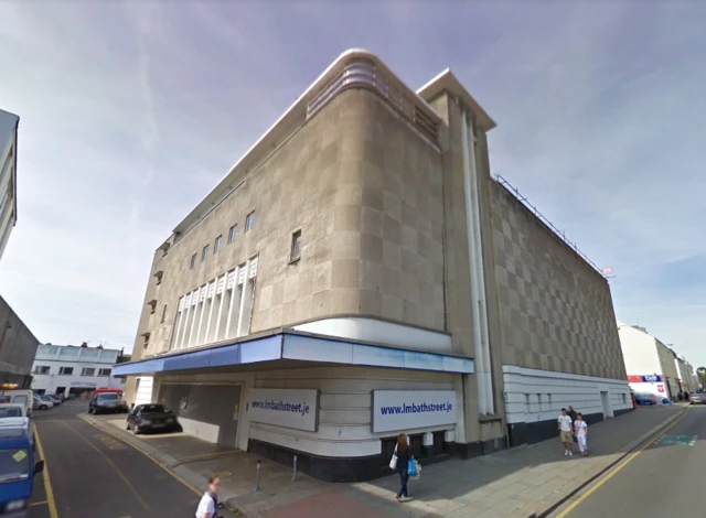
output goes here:
{"type": "MultiPolygon", "coordinates": [[[[452,460],[426,466],[419,481],[409,482],[411,498],[404,504],[394,499],[396,475],[355,484],[327,484],[299,475],[292,483],[290,467],[266,460],[261,460],[260,490],[254,492],[257,461],[254,455],[224,452],[215,458],[206,454],[180,462],[156,449],[156,439],[135,438],[105,420],[88,419],[168,467],[173,466],[179,476],[196,487],[204,487],[207,474],[222,473],[225,475],[222,498],[248,518],[531,518],[548,514],[628,452],[678,419],[685,407],[682,403],[639,408],[591,425],[588,442],[591,455],[587,458],[565,457],[557,439],[468,461],[452,460]]],[[[160,445],[169,441],[163,438],[160,445]]],[[[192,458],[193,452],[192,449],[192,458]]]]}

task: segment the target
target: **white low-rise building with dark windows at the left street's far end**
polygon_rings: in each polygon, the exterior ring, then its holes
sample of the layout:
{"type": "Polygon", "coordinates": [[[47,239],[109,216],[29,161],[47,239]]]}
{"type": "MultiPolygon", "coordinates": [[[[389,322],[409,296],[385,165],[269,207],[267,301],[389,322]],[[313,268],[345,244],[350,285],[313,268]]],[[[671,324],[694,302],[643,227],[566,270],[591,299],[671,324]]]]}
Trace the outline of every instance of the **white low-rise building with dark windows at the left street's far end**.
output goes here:
{"type": "Polygon", "coordinates": [[[97,388],[124,389],[125,378],[113,377],[120,350],[100,347],[39,346],[32,367],[32,390],[38,393],[86,397],[97,388]]]}

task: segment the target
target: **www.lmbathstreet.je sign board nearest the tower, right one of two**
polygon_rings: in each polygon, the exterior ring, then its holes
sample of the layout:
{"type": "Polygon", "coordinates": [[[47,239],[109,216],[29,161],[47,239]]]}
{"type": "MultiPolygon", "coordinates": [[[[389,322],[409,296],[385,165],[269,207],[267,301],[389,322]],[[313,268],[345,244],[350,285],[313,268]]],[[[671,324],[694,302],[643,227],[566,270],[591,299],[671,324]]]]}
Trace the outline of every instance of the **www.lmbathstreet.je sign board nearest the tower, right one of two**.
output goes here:
{"type": "Polygon", "coordinates": [[[454,390],[373,390],[373,432],[456,424],[454,390]]]}

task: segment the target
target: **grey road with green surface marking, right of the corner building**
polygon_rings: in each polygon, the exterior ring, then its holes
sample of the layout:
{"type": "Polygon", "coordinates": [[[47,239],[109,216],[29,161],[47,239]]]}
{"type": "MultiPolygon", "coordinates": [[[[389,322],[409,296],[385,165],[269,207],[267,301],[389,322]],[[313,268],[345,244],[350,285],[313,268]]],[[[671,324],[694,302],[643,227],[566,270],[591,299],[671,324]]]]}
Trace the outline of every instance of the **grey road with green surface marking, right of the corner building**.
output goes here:
{"type": "Polygon", "coordinates": [[[706,406],[692,406],[656,441],[627,460],[552,516],[703,516],[706,406]]]}

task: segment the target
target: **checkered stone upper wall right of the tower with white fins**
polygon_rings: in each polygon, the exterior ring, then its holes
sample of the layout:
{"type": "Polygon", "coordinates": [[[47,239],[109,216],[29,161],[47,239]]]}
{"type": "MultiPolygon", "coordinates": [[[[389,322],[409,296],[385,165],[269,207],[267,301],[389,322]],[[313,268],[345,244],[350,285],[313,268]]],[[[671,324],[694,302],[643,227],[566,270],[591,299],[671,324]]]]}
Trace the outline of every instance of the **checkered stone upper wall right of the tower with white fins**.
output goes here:
{"type": "Polygon", "coordinates": [[[606,279],[491,183],[503,364],[625,379],[606,279]]]}

